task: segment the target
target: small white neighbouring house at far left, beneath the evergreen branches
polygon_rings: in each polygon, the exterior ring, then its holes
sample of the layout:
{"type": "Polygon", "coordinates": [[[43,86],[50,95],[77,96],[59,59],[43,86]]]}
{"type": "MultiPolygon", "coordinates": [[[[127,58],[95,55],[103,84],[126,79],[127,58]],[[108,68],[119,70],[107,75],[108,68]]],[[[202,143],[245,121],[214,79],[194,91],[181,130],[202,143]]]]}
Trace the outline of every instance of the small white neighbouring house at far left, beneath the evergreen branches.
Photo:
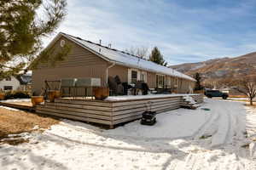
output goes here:
{"type": "Polygon", "coordinates": [[[0,81],[2,90],[17,90],[20,87],[20,81],[16,77],[3,78],[0,81]]]}

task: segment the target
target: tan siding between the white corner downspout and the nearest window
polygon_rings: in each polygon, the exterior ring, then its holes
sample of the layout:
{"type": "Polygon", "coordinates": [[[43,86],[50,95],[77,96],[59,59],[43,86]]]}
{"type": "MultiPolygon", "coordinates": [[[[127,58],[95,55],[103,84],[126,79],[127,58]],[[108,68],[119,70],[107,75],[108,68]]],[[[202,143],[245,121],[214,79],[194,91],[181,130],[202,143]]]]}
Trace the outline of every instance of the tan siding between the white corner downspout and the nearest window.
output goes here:
{"type": "Polygon", "coordinates": [[[121,65],[114,65],[108,69],[108,77],[119,76],[121,82],[128,82],[128,68],[121,65]]]}

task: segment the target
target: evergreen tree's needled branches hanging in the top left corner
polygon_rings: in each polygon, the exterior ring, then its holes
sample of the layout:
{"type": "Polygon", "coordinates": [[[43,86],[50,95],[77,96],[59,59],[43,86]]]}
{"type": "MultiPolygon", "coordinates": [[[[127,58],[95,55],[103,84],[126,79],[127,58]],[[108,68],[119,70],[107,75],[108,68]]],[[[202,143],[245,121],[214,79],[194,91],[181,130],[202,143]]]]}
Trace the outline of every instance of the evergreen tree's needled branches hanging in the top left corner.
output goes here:
{"type": "MultiPolygon", "coordinates": [[[[42,49],[42,38],[64,19],[66,7],[66,0],[0,1],[0,77],[25,70],[32,63],[42,49]]],[[[60,54],[53,58],[63,59],[60,54]]]]}

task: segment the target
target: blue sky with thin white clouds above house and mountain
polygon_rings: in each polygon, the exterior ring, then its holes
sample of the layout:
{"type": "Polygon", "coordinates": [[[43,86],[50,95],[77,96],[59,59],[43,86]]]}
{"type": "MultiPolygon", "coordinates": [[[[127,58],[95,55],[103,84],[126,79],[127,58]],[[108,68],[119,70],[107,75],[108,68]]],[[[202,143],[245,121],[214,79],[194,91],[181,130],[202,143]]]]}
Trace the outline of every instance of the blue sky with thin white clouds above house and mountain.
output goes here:
{"type": "MultiPolygon", "coordinates": [[[[255,0],[67,0],[56,31],[124,50],[157,46],[169,65],[256,51],[255,0]]],[[[49,42],[49,37],[44,42],[49,42]]]]}

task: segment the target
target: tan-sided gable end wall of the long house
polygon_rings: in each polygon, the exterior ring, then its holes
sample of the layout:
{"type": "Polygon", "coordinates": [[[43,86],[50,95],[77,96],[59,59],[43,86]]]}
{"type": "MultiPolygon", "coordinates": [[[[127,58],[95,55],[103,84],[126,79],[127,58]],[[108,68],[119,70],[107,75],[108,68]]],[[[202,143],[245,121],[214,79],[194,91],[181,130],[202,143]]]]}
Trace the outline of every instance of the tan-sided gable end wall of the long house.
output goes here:
{"type": "Polygon", "coordinates": [[[44,87],[44,80],[60,80],[61,78],[99,77],[102,85],[105,85],[108,62],[65,37],[55,42],[52,48],[59,50],[62,39],[71,44],[71,53],[64,61],[57,62],[55,67],[48,64],[38,65],[38,69],[32,71],[32,91],[39,94],[44,87]]]}

